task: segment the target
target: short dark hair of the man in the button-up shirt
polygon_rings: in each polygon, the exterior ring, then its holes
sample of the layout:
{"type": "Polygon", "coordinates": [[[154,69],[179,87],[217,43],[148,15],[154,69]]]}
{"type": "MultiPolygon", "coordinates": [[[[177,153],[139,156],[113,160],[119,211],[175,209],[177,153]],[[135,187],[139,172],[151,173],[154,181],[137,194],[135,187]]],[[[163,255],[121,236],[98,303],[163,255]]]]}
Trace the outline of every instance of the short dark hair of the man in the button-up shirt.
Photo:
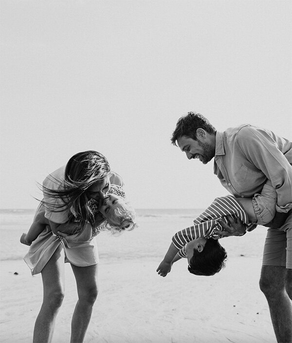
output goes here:
{"type": "Polygon", "coordinates": [[[172,133],[171,143],[177,145],[176,141],[182,136],[190,137],[197,141],[198,128],[202,128],[210,134],[215,134],[216,132],[216,128],[203,115],[196,112],[188,112],[178,120],[172,133]]]}

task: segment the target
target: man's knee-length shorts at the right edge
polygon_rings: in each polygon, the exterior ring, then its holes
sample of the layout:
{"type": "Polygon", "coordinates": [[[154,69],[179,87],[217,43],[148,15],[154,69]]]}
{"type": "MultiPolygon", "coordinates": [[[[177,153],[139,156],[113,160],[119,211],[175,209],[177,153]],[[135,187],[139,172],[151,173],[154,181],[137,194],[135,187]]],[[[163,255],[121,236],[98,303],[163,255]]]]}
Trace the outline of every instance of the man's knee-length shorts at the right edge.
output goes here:
{"type": "Polygon", "coordinates": [[[268,229],[263,266],[283,266],[292,269],[292,210],[279,229],[268,229]]]}

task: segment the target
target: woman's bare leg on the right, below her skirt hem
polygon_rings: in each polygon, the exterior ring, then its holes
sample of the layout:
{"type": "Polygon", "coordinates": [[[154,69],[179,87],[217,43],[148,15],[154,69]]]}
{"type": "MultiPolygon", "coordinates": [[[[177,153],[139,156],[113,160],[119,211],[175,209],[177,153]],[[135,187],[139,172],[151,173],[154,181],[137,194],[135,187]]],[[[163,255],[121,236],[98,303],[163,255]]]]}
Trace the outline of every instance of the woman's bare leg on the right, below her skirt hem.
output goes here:
{"type": "Polygon", "coordinates": [[[97,297],[97,264],[89,267],[71,265],[77,284],[78,301],[72,318],[71,343],[82,343],[97,297]]]}

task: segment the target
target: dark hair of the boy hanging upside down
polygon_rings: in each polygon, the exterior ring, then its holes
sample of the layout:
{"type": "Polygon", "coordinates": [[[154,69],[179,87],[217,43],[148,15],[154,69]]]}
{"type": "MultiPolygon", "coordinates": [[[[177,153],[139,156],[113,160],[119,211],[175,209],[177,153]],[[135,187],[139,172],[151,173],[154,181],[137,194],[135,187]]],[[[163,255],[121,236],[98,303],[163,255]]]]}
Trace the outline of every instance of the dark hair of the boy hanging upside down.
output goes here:
{"type": "Polygon", "coordinates": [[[194,249],[188,271],[195,275],[210,276],[225,267],[227,253],[218,239],[208,238],[201,253],[194,249]]]}

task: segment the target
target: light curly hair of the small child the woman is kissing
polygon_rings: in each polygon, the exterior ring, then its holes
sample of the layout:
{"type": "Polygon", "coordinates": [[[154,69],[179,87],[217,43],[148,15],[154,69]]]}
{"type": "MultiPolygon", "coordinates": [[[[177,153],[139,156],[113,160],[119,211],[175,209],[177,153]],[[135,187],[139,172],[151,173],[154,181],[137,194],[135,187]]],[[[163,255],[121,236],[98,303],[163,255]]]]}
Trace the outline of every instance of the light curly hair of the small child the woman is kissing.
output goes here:
{"type": "Polygon", "coordinates": [[[135,217],[134,209],[125,202],[116,208],[111,216],[107,217],[106,229],[110,230],[112,234],[118,235],[124,231],[131,231],[138,226],[135,217]]]}

